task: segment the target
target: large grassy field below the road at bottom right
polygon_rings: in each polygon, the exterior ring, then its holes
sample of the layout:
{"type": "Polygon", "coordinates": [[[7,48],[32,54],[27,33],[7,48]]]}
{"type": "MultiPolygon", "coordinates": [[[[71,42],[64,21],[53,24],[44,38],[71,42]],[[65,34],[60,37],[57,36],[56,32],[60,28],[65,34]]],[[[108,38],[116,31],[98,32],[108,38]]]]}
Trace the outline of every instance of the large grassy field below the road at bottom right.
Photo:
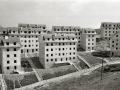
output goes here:
{"type": "MultiPolygon", "coordinates": [[[[120,72],[118,71],[120,65],[112,65],[112,67],[114,70],[117,68],[117,71],[104,71],[102,80],[101,69],[97,69],[90,75],[50,83],[36,90],[120,90],[120,72]]],[[[111,68],[111,66],[105,68],[111,68]]]]}

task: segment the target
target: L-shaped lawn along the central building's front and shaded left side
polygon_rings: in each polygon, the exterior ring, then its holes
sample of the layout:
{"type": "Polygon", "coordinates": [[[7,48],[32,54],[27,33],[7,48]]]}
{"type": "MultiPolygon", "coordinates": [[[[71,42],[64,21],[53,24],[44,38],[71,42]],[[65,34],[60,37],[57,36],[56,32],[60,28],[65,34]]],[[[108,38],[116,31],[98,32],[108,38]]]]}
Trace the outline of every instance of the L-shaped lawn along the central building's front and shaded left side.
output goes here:
{"type": "Polygon", "coordinates": [[[31,58],[31,60],[35,65],[38,74],[43,78],[43,80],[59,77],[77,71],[77,69],[74,66],[69,65],[68,63],[63,65],[58,64],[54,65],[53,68],[44,69],[41,63],[39,62],[39,58],[33,57],[31,58]]]}

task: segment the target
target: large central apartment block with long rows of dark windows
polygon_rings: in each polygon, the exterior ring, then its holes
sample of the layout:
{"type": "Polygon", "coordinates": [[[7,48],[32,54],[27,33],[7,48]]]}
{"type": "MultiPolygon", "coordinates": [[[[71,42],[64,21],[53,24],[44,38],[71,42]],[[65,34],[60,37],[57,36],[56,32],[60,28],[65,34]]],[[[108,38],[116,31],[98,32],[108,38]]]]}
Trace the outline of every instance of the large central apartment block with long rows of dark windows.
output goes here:
{"type": "Polygon", "coordinates": [[[77,39],[74,34],[42,34],[39,43],[39,60],[44,68],[76,59],[77,39]]]}

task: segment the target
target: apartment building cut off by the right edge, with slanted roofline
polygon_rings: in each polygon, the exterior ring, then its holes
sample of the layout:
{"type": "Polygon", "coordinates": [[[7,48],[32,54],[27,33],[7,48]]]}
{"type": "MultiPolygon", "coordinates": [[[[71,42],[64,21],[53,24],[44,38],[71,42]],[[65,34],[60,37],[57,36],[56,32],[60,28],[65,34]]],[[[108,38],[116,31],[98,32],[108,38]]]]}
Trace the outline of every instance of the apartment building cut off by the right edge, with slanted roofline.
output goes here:
{"type": "Polygon", "coordinates": [[[110,38],[110,54],[120,56],[120,32],[115,33],[110,38]]]}

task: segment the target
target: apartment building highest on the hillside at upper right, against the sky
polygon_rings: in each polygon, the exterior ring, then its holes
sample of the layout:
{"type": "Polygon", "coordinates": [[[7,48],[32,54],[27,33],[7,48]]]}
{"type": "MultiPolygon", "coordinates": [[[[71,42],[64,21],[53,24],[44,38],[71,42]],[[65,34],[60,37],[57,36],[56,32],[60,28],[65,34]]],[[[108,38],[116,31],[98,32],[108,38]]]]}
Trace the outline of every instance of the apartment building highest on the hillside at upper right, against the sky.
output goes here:
{"type": "Polygon", "coordinates": [[[112,22],[102,22],[101,26],[101,37],[103,39],[110,40],[110,37],[120,31],[120,23],[112,23],[112,22]]]}

